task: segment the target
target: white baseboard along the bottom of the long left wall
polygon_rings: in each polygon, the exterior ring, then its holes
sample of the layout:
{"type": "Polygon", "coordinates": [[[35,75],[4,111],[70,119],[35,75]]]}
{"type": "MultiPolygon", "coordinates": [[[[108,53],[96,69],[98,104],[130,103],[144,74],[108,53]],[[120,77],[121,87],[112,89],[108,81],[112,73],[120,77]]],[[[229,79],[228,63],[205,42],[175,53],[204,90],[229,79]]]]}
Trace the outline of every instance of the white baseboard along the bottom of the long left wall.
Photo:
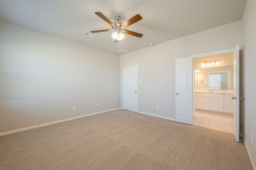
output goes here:
{"type": "Polygon", "coordinates": [[[35,129],[35,128],[38,128],[38,127],[48,126],[48,125],[52,125],[52,124],[56,124],[56,123],[60,123],[60,122],[64,122],[64,121],[70,121],[70,120],[74,120],[74,119],[79,119],[79,118],[82,118],[82,117],[87,117],[87,116],[91,116],[91,115],[105,113],[105,112],[113,111],[113,110],[117,110],[117,109],[120,109],[120,107],[115,108],[115,109],[104,110],[104,111],[100,111],[100,112],[96,112],[96,113],[91,113],[91,114],[88,114],[88,115],[71,117],[71,118],[68,118],[68,119],[53,121],[53,122],[44,123],[44,124],[41,124],[41,125],[35,125],[35,126],[25,127],[25,128],[22,128],[22,129],[16,129],[16,130],[13,130],[13,131],[3,132],[3,133],[0,133],[0,136],[9,135],[9,134],[17,133],[17,132],[21,132],[21,131],[27,131],[27,130],[30,130],[30,129],[35,129]]]}

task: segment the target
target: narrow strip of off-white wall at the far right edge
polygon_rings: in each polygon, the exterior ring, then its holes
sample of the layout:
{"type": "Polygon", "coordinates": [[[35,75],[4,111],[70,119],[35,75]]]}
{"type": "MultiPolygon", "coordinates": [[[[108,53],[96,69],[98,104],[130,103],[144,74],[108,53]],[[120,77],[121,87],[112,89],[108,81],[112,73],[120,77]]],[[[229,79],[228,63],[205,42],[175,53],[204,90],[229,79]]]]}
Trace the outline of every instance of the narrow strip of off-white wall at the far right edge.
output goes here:
{"type": "Polygon", "coordinates": [[[248,0],[242,18],[242,62],[244,91],[244,139],[251,158],[256,165],[256,1],[248,0]],[[254,137],[251,143],[251,135],[254,137]]]}

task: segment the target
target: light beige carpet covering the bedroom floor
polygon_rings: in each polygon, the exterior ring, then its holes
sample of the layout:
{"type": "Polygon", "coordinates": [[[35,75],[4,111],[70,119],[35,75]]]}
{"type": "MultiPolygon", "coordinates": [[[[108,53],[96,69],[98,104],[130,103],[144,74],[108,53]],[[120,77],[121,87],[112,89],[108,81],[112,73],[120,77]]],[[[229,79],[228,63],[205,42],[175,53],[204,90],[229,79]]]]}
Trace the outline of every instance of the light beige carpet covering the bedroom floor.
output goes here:
{"type": "Polygon", "coordinates": [[[121,109],[0,139],[1,170],[252,170],[231,133],[121,109]]]}

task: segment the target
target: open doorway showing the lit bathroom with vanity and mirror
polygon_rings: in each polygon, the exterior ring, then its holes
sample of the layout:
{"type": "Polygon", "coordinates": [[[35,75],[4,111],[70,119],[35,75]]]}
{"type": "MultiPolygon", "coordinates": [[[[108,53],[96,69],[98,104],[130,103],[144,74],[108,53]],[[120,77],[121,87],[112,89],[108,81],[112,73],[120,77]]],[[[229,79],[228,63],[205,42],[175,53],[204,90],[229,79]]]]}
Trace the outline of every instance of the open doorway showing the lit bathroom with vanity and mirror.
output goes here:
{"type": "Polygon", "coordinates": [[[234,52],[193,57],[193,125],[234,133],[234,52]]]}

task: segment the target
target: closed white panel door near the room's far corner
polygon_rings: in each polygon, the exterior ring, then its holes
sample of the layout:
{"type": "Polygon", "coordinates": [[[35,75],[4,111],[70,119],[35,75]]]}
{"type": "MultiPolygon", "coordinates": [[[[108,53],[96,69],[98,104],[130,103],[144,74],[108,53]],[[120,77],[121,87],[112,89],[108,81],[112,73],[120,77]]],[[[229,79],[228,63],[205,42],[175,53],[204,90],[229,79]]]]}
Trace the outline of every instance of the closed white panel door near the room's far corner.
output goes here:
{"type": "Polygon", "coordinates": [[[137,66],[124,68],[124,109],[138,111],[137,66]]]}

